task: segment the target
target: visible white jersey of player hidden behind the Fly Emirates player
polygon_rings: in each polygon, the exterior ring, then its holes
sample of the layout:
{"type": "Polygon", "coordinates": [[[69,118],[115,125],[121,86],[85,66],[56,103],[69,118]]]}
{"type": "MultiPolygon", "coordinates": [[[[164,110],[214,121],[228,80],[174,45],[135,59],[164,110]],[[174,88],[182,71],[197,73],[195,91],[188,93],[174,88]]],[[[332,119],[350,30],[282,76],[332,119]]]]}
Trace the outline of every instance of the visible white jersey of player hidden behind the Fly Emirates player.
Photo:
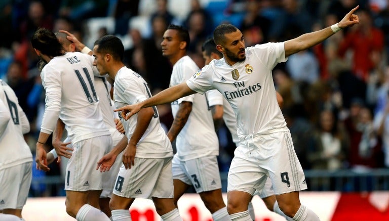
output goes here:
{"type": "Polygon", "coordinates": [[[232,141],[238,147],[238,129],[237,129],[237,116],[235,116],[234,110],[232,110],[231,105],[228,101],[224,99],[223,95],[220,94],[217,90],[207,91],[207,97],[212,97],[213,99],[208,99],[209,106],[222,105],[223,106],[223,120],[227,126],[229,132],[231,133],[232,141]]]}

